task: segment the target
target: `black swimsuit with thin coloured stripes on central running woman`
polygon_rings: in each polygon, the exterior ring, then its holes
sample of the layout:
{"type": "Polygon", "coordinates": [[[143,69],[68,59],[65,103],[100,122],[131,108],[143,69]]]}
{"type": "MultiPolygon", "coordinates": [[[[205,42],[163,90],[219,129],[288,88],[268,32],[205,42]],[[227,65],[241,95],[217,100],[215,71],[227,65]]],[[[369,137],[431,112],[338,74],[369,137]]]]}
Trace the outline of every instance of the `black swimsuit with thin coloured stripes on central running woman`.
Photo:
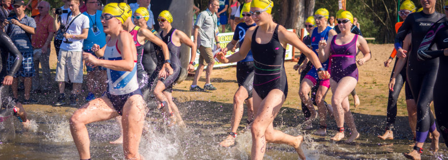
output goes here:
{"type": "Polygon", "coordinates": [[[277,24],[271,40],[266,44],[259,44],[255,41],[258,27],[252,34],[250,49],[255,66],[253,89],[262,99],[265,99],[273,89],[283,91],[285,98],[288,95],[288,82],[284,66],[286,49],[283,48],[278,38],[278,26],[277,24]]]}

